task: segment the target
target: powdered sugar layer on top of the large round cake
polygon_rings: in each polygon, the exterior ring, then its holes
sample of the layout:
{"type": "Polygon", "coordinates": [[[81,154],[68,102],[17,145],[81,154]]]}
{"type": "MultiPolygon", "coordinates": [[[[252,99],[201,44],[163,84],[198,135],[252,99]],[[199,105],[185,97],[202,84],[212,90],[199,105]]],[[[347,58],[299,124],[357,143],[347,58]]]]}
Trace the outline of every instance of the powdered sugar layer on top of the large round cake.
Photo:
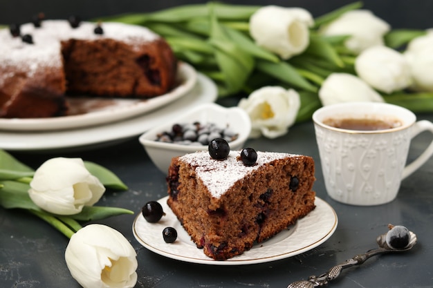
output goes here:
{"type": "MultiPolygon", "coordinates": [[[[132,26],[124,23],[102,23],[103,35],[97,35],[93,30],[95,23],[82,22],[77,28],[72,28],[68,21],[45,20],[42,27],[35,28],[33,23],[21,25],[21,35],[31,35],[34,44],[21,41],[21,37],[12,37],[8,28],[0,30],[0,68],[19,67],[32,76],[35,71],[44,67],[62,67],[60,41],[66,39],[96,40],[110,38],[123,41],[137,47],[146,41],[158,39],[151,30],[142,26],[132,26]]],[[[6,75],[0,75],[4,78],[6,75]]],[[[1,79],[0,79],[1,81],[1,79]]]]}

